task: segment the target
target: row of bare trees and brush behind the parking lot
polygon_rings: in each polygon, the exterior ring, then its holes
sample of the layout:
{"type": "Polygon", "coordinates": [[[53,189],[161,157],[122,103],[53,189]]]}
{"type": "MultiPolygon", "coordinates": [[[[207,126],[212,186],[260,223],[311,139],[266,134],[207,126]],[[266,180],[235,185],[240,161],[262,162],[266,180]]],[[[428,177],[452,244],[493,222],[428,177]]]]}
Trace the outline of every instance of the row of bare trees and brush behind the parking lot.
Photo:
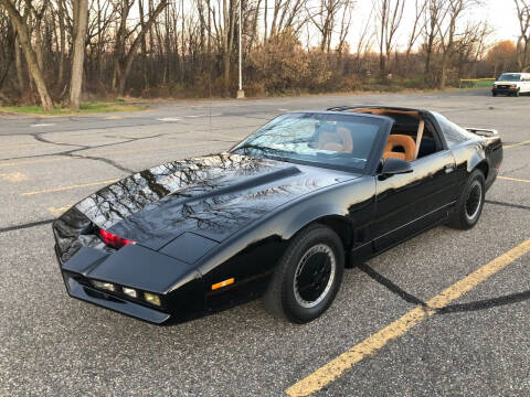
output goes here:
{"type": "Polygon", "coordinates": [[[511,4],[500,65],[480,0],[373,0],[362,19],[356,0],[0,0],[0,103],[233,95],[240,24],[251,95],[444,88],[530,65],[530,0],[511,4]]]}

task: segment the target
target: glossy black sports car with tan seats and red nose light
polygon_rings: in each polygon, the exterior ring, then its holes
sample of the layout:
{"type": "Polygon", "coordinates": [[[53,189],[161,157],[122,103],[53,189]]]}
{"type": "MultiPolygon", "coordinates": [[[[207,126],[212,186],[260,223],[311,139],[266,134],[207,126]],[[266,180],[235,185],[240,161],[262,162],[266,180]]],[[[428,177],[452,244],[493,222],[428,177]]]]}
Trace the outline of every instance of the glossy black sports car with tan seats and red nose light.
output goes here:
{"type": "Polygon", "coordinates": [[[495,130],[341,107],[282,115],[226,153],[102,189],[53,224],[70,296],[152,323],[264,294],[320,315],[352,267],[430,227],[473,227],[497,176],[495,130]]]}

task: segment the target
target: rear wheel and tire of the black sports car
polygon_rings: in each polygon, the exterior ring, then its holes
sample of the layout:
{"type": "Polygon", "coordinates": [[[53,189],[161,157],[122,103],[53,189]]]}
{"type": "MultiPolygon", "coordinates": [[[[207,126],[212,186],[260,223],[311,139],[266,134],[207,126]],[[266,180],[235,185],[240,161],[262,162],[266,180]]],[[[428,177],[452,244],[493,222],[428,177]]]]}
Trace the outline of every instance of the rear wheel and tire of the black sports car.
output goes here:
{"type": "Polygon", "coordinates": [[[480,170],[474,170],[458,197],[448,225],[464,230],[475,226],[483,213],[485,193],[484,174],[480,170]]]}

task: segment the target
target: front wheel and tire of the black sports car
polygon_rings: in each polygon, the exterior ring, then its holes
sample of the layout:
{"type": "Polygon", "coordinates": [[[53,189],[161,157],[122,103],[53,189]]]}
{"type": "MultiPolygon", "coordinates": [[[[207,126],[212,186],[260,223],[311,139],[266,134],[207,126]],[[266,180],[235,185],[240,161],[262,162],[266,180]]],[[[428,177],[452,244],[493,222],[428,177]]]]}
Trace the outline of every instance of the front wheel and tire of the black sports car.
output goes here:
{"type": "Polygon", "coordinates": [[[333,302],[344,270],[337,234],[315,224],[290,243],[274,271],[264,303],[273,314],[296,323],[320,316],[333,302]]]}

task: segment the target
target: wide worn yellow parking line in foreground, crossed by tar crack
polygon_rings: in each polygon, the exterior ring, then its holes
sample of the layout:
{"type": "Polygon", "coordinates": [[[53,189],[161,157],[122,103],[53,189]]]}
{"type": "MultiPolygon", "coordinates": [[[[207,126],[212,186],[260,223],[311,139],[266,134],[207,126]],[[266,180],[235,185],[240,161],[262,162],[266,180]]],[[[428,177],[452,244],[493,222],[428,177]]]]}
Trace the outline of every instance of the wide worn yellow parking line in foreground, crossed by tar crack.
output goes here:
{"type": "Polygon", "coordinates": [[[471,290],[480,282],[504,269],[528,251],[530,251],[530,238],[438,293],[436,297],[426,302],[427,308],[417,307],[411,310],[401,319],[394,321],[386,328],[354,345],[347,352],[315,371],[309,376],[290,386],[285,391],[289,396],[294,397],[308,396],[320,390],[322,387],[337,379],[346,371],[350,369],[356,363],[371,354],[377,353],[390,341],[403,336],[411,328],[422,322],[428,315],[433,315],[435,313],[435,309],[441,309],[455,299],[462,297],[464,293],[471,290]]]}

